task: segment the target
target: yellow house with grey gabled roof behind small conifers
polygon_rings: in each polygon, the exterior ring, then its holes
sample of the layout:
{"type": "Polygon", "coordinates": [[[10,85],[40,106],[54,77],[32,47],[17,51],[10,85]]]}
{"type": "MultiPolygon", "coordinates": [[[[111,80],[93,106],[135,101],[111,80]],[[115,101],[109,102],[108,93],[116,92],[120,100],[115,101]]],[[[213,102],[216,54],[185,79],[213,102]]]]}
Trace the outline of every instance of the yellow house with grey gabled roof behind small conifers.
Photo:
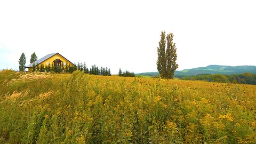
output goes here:
{"type": "Polygon", "coordinates": [[[63,66],[75,66],[72,62],[70,62],[68,59],[66,59],[65,57],[63,57],[61,54],[57,53],[51,53],[51,54],[47,54],[45,55],[43,58],[30,63],[26,68],[28,68],[28,71],[33,69],[33,65],[37,66],[37,65],[44,65],[44,66],[56,66],[58,68],[60,68],[62,65],[63,66]]]}

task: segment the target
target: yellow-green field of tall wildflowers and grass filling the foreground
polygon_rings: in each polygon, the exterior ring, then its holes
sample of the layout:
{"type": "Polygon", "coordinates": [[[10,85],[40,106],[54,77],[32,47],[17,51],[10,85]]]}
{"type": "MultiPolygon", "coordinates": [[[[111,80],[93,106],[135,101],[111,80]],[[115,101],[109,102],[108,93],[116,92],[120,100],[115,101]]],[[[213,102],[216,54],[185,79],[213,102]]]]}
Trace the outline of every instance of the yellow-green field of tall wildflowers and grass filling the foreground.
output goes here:
{"type": "Polygon", "coordinates": [[[0,71],[0,143],[256,143],[256,86],[0,71]]]}

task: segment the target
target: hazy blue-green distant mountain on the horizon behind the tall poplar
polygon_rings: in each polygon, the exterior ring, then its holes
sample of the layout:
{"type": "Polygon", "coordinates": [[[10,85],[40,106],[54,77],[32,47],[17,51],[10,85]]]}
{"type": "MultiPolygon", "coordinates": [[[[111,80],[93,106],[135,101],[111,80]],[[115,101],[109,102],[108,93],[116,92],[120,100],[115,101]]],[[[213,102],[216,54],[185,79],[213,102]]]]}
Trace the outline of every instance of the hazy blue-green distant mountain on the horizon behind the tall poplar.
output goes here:
{"type": "MultiPolygon", "coordinates": [[[[184,69],[180,71],[175,71],[175,77],[182,77],[182,76],[193,76],[198,74],[223,74],[223,75],[236,75],[236,74],[243,74],[243,73],[251,73],[256,74],[256,66],[219,66],[219,65],[210,65],[207,67],[199,67],[199,68],[191,68],[191,69],[184,69]]],[[[151,72],[151,73],[140,73],[135,75],[142,75],[142,76],[158,76],[158,72],[151,72]]]]}

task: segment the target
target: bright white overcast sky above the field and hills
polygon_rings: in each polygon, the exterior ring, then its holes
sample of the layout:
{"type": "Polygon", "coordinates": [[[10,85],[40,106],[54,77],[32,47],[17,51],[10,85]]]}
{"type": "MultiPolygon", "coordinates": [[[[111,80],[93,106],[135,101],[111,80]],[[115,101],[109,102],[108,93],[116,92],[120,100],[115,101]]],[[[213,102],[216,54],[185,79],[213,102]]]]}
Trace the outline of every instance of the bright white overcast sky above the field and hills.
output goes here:
{"type": "Polygon", "coordinates": [[[0,1],[0,69],[24,52],[59,52],[88,67],[157,71],[161,31],[179,69],[255,65],[256,1],[0,1]]]}

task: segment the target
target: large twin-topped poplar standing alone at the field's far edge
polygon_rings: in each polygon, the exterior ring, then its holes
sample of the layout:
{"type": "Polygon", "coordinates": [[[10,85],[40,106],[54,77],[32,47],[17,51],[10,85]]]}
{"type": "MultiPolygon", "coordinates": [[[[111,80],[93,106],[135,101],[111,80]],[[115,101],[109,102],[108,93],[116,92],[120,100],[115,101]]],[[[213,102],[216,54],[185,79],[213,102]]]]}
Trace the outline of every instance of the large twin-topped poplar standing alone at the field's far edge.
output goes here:
{"type": "Polygon", "coordinates": [[[177,48],[173,43],[173,34],[167,34],[162,31],[159,47],[157,47],[157,70],[162,78],[173,78],[175,69],[178,68],[177,60],[177,48]]]}

